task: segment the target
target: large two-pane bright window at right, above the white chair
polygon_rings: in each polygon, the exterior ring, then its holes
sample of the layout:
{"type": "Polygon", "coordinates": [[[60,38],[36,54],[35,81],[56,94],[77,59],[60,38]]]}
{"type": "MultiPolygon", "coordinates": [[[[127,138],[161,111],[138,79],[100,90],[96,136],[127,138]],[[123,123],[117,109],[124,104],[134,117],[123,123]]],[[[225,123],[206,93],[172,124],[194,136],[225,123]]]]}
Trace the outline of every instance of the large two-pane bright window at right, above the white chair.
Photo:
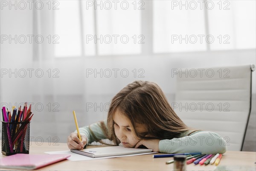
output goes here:
{"type": "Polygon", "coordinates": [[[255,1],[199,2],[154,1],[154,53],[256,47],[255,1]]]}

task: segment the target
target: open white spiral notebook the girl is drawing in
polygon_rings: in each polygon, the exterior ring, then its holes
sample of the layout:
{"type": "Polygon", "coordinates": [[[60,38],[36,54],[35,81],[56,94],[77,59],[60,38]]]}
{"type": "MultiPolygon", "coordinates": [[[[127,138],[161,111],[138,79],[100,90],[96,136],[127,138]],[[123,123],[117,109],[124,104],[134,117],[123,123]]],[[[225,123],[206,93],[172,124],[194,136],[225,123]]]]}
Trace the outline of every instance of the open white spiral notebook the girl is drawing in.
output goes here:
{"type": "Polygon", "coordinates": [[[119,156],[127,154],[138,154],[151,152],[152,149],[134,149],[134,148],[125,148],[123,146],[111,146],[111,147],[100,147],[100,148],[91,148],[84,150],[70,150],[73,153],[81,154],[88,157],[109,157],[109,156],[119,156]]]}

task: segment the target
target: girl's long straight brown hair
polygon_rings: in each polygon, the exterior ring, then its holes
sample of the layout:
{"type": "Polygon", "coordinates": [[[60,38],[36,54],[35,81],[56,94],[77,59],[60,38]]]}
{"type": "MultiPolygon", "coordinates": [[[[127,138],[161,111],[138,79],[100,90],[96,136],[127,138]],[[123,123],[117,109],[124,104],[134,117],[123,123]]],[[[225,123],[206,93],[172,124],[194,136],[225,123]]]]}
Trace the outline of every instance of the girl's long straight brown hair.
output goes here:
{"type": "Polygon", "coordinates": [[[129,119],[134,135],[140,139],[170,140],[192,130],[180,120],[168,103],[163,91],[153,82],[134,81],[113,97],[107,123],[108,138],[113,140],[116,145],[120,143],[113,126],[113,115],[117,110],[129,119]],[[136,123],[145,124],[150,136],[140,135],[134,129],[136,123]]]}

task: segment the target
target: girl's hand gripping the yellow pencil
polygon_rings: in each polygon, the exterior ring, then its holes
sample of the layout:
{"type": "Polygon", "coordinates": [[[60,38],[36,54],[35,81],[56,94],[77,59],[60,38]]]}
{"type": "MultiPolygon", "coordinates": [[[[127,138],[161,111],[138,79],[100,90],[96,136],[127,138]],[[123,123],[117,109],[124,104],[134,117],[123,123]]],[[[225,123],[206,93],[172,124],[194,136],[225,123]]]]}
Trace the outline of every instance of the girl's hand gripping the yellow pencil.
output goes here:
{"type": "Polygon", "coordinates": [[[69,149],[78,149],[82,150],[84,149],[84,146],[87,143],[87,137],[84,135],[81,135],[81,141],[79,140],[79,137],[77,133],[73,132],[70,134],[70,136],[67,137],[67,146],[69,149]]]}

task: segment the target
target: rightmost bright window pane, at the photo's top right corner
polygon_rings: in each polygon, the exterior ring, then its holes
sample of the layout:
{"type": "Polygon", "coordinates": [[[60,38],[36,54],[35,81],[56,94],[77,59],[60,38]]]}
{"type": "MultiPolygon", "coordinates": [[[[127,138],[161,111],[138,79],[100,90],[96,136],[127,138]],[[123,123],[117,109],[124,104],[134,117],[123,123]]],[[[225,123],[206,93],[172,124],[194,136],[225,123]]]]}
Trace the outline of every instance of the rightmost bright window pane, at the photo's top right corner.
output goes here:
{"type": "Polygon", "coordinates": [[[209,34],[217,38],[212,43],[211,50],[256,48],[255,2],[254,0],[224,1],[216,4],[218,8],[208,11],[209,34]]]}

